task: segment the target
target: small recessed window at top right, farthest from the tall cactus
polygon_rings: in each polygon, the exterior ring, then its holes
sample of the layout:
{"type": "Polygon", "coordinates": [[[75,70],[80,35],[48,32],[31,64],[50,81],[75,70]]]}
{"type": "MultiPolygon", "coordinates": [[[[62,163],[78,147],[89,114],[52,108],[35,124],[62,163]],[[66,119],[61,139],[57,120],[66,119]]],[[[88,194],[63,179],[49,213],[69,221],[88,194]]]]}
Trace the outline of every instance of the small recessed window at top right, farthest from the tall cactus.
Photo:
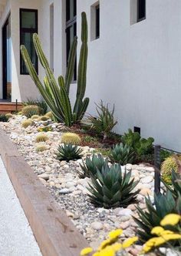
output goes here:
{"type": "Polygon", "coordinates": [[[130,25],[146,19],[146,0],[130,0],[130,25]]]}

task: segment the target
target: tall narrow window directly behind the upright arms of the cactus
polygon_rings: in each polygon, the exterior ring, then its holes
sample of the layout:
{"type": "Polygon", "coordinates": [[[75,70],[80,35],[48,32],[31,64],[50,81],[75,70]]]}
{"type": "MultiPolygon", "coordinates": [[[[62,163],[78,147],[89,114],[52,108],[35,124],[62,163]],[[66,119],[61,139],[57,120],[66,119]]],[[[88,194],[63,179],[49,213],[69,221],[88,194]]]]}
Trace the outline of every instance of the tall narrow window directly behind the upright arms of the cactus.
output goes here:
{"type": "MultiPolygon", "coordinates": [[[[77,35],[77,1],[66,0],[66,47],[67,61],[74,37],[77,35]]],[[[77,60],[74,66],[74,81],[77,80],[77,60]]]]}

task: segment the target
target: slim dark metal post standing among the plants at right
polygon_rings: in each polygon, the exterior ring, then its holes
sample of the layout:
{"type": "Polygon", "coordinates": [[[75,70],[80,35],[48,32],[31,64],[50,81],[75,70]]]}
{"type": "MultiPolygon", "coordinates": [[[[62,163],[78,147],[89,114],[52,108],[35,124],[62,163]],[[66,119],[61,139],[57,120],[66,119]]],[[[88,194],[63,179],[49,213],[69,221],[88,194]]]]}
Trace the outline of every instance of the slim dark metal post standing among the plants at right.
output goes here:
{"type": "Polygon", "coordinates": [[[155,145],[154,148],[154,165],[155,165],[155,194],[160,193],[160,145],[155,145]]]}

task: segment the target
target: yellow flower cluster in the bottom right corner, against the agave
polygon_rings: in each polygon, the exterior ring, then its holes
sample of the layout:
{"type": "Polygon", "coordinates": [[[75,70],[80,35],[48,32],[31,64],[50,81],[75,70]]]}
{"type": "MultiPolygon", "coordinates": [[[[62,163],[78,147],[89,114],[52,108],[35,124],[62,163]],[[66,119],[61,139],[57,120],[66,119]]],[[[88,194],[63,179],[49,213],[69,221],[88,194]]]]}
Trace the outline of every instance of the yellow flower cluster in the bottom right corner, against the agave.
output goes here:
{"type": "Polygon", "coordinates": [[[167,214],[160,221],[160,226],[153,227],[151,234],[156,235],[156,237],[152,237],[146,241],[143,245],[143,253],[146,254],[160,247],[181,251],[181,215],[167,214]],[[173,227],[172,231],[166,229],[170,226],[173,227]]]}

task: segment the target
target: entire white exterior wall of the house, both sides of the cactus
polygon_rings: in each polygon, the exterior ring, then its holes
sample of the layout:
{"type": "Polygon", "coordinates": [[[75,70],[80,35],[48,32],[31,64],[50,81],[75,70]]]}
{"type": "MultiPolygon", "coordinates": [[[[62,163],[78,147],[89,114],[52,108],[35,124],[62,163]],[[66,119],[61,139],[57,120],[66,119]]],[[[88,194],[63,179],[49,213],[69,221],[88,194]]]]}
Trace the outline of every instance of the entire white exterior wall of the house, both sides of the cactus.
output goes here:
{"type": "MultiPolygon", "coordinates": [[[[14,52],[12,94],[13,100],[25,100],[27,96],[37,97],[38,91],[29,76],[19,75],[19,8],[38,8],[38,32],[50,59],[50,5],[54,3],[54,74],[58,77],[64,75],[66,67],[65,0],[10,2],[14,52]]],[[[142,136],[153,136],[155,143],[162,147],[181,151],[181,2],[147,0],[146,19],[130,25],[135,0],[100,0],[100,39],[91,41],[91,5],[95,2],[77,0],[77,54],[81,47],[83,11],[87,13],[89,29],[86,96],[91,103],[88,113],[96,113],[94,103],[102,99],[110,107],[115,106],[117,133],[139,126],[142,136]]],[[[39,74],[42,79],[41,67],[39,74]]],[[[75,92],[76,84],[72,84],[72,102],[75,92]]]]}

